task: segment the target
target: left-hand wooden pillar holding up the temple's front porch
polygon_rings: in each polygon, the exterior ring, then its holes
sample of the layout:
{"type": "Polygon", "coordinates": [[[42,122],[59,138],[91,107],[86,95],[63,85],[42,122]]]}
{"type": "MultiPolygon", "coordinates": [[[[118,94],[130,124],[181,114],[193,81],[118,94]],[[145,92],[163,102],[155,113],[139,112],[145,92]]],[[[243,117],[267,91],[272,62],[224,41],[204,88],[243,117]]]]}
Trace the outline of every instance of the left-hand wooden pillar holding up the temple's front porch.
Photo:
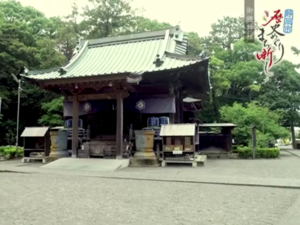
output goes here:
{"type": "Polygon", "coordinates": [[[72,157],[78,157],[78,120],[79,102],[77,96],[73,96],[73,118],[72,118],[72,157]]]}

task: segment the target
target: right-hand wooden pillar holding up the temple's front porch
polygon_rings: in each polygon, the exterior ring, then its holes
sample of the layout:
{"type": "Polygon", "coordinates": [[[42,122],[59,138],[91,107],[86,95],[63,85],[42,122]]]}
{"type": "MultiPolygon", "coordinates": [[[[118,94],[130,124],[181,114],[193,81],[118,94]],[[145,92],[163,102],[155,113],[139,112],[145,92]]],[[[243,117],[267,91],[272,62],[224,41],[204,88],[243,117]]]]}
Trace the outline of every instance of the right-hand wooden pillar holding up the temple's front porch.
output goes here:
{"type": "Polygon", "coordinates": [[[123,95],[117,94],[117,158],[123,158],[123,95]]]}

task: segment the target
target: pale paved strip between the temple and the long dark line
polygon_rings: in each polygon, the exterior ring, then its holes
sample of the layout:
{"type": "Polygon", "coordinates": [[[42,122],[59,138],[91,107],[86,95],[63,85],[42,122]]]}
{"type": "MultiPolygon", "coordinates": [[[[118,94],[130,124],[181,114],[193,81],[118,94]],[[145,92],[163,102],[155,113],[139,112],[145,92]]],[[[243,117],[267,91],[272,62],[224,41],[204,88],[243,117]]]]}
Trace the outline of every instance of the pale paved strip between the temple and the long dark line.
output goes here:
{"type": "MultiPolygon", "coordinates": [[[[297,154],[297,150],[294,150],[297,154]]],[[[295,153],[295,154],[296,154],[295,153]]],[[[299,151],[300,155],[300,151],[299,151]]],[[[280,159],[208,160],[205,167],[127,168],[115,172],[50,170],[41,164],[2,162],[0,170],[17,172],[96,176],[116,179],[146,179],[190,183],[258,185],[266,187],[300,188],[300,158],[283,151],[280,159]]]]}

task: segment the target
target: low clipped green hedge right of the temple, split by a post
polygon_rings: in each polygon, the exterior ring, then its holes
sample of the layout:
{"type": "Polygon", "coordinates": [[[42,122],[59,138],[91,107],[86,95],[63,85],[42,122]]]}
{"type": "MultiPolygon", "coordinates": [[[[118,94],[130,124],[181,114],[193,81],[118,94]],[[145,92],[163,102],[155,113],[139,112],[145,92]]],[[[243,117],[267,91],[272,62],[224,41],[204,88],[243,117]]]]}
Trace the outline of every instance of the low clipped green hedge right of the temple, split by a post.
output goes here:
{"type": "MultiPolygon", "coordinates": [[[[240,147],[236,150],[240,158],[248,159],[252,158],[252,148],[249,147],[240,147]]],[[[280,155],[279,148],[258,148],[256,149],[256,158],[270,159],[278,158],[280,155]]]]}

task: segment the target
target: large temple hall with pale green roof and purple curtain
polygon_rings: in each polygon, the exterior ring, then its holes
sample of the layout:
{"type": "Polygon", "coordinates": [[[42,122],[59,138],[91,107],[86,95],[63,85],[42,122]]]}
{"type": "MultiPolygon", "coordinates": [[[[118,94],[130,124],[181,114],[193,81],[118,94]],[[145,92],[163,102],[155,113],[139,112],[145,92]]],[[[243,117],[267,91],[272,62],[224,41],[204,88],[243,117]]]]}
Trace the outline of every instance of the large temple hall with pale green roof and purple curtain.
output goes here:
{"type": "MultiPolygon", "coordinates": [[[[89,146],[91,156],[114,152],[122,158],[128,141],[134,138],[133,131],[149,127],[149,117],[182,123],[185,109],[195,108],[195,103],[183,105],[183,99],[203,99],[210,89],[209,59],[188,55],[188,38],[179,26],[81,40],[76,49],[64,67],[30,70],[23,75],[65,96],[64,117],[72,120],[73,157],[78,157],[83,142],[89,141],[84,147],[89,146]],[[79,120],[83,121],[82,134],[79,120]]],[[[159,133],[160,128],[152,129],[159,133]]]]}

